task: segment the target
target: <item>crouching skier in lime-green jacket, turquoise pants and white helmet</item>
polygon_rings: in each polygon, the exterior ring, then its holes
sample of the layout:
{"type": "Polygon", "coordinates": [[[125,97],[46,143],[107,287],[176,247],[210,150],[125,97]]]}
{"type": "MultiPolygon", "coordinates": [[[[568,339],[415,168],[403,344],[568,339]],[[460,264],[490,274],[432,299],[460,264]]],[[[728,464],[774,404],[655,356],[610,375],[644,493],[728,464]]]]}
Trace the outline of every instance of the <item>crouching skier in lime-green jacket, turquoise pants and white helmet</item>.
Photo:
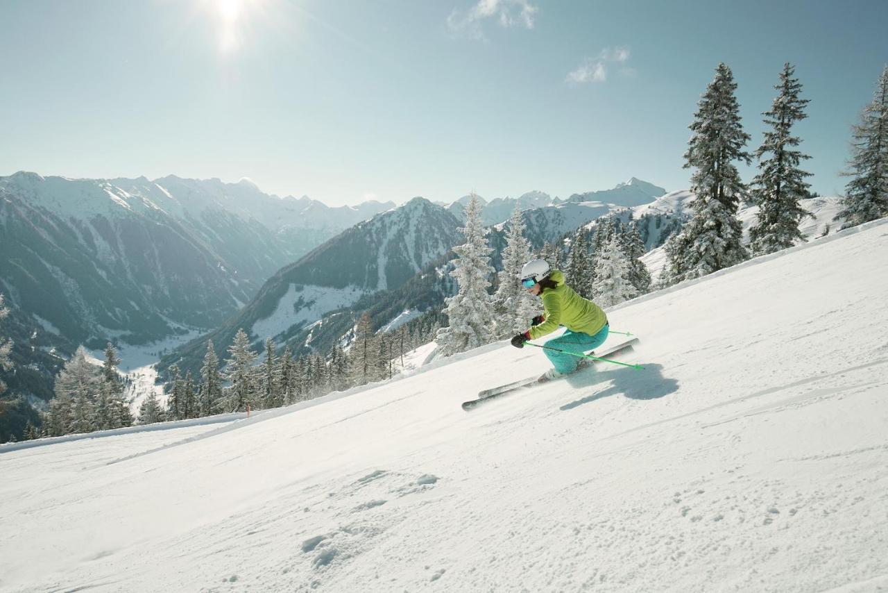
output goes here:
{"type": "MultiPolygon", "coordinates": [[[[552,333],[564,325],[567,330],[546,346],[583,354],[598,348],[607,339],[607,316],[598,305],[564,283],[564,274],[550,269],[546,260],[530,260],[521,268],[521,285],[528,292],[543,299],[543,315],[534,317],[530,329],[511,339],[515,348],[524,348],[525,342],[552,333]]],[[[553,368],[541,380],[558,379],[573,373],[583,358],[554,350],[545,350],[553,368]]]]}

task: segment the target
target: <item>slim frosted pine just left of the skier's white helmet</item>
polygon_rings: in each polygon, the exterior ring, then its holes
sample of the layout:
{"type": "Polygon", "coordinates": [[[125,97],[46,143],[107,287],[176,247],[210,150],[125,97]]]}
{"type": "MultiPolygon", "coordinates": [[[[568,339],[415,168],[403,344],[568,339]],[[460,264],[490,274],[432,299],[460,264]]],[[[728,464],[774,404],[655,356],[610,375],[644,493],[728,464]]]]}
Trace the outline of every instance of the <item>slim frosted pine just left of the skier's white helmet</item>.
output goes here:
{"type": "Polygon", "coordinates": [[[519,277],[521,267],[530,260],[530,244],[524,238],[524,227],[524,217],[516,205],[503,249],[503,271],[499,273],[499,286],[493,296],[496,337],[500,340],[525,331],[530,320],[542,311],[539,299],[521,286],[519,277]]]}

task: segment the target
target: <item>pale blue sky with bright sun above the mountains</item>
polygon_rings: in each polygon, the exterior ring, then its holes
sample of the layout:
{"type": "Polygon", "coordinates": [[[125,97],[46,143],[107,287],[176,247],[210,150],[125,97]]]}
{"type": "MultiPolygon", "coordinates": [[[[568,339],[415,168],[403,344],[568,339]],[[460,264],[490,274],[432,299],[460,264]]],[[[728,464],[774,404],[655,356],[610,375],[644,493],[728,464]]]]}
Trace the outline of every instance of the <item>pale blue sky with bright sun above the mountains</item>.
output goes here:
{"type": "Polygon", "coordinates": [[[886,24],[885,0],[2,0],[0,175],[249,177],[331,205],[680,189],[718,62],[751,151],[789,61],[836,194],[886,24]]]}

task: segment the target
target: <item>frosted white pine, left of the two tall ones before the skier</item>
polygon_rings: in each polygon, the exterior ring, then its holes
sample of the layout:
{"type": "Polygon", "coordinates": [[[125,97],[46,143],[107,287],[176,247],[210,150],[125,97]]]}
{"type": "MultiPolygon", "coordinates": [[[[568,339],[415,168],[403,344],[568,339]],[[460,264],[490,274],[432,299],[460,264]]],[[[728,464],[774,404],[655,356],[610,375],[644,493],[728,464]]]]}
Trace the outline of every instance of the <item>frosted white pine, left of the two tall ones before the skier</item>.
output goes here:
{"type": "Polygon", "coordinates": [[[453,248],[456,260],[450,276],[456,278],[459,292],[445,300],[444,313],[448,326],[442,327],[435,341],[440,354],[450,356],[483,346],[494,339],[495,320],[488,294],[490,276],[496,271],[490,265],[490,252],[484,228],[481,225],[481,206],[478,196],[465,209],[465,227],[459,229],[465,243],[453,248]]]}

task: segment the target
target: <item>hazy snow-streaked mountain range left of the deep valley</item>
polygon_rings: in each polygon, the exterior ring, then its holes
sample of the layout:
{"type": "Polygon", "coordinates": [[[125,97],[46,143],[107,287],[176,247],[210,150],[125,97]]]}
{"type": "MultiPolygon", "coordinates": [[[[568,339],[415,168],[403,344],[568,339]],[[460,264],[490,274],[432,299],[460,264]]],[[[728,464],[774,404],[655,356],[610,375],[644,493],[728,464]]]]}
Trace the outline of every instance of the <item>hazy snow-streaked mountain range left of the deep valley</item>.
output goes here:
{"type": "Polygon", "coordinates": [[[37,405],[52,397],[53,376],[81,343],[155,343],[218,325],[281,266],[391,206],[328,208],[248,180],[2,177],[11,391],[37,405]]]}

